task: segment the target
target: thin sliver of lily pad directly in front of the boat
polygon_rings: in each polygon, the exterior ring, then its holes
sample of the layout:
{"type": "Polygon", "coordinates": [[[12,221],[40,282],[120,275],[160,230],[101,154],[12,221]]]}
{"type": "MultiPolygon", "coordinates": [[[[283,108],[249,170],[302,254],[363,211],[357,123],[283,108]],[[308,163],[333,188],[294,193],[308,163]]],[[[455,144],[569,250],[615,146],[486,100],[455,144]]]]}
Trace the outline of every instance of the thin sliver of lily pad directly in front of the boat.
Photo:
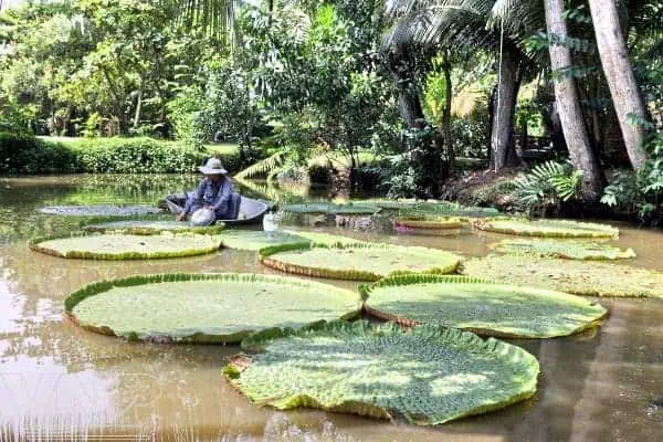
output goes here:
{"type": "MultiPolygon", "coordinates": [[[[170,217],[172,218],[172,217],[170,217]]],[[[200,234],[219,234],[223,230],[223,223],[206,227],[191,225],[188,222],[165,221],[165,220],[126,220],[112,221],[98,224],[87,224],[83,227],[85,231],[97,233],[128,233],[139,235],[150,235],[162,232],[190,232],[200,234]]]]}

